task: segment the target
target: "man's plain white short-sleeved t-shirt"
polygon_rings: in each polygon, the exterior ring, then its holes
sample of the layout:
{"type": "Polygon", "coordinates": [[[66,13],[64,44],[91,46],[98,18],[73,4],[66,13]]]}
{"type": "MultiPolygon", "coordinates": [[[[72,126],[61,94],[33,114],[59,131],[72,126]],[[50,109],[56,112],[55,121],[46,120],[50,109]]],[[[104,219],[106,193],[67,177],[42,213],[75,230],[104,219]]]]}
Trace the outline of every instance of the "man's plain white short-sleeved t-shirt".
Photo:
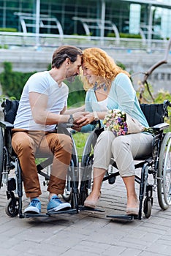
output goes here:
{"type": "Polygon", "coordinates": [[[29,104],[29,92],[31,91],[47,95],[47,111],[59,114],[67,105],[69,94],[68,86],[66,86],[65,83],[61,83],[61,86],[59,87],[58,83],[53,80],[48,71],[37,72],[34,75],[31,75],[28,79],[20,97],[20,104],[15,118],[14,128],[42,131],[55,130],[56,124],[44,125],[35,123],[31,115],[29,104]]]}

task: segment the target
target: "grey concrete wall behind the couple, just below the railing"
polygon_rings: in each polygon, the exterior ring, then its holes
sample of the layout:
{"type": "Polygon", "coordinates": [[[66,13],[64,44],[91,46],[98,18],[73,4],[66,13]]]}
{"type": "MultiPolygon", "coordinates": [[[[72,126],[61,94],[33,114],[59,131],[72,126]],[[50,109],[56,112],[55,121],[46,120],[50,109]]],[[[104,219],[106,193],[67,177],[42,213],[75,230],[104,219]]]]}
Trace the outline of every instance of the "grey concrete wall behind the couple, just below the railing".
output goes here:
{"type": "MultiPolygon", "coordinates": [[[[45,48],[43,50],[34,50],[33,48],[20,48],[14,50],[0,49],[0,72],[3,71],[2,63],[4,61],[12,62],[14,71],[30,72],[42,71],[47,69],[47,65],[51,63],[53,51],[55,48],[45,48]]],[[[129,72],[146,72],[153,64],[164,59],[163,52],[147,53],[138,50],[115,50],[104,49],[113,57],[115,62],[121,62],[126,66],[129,72]]],[[[133,77],[138,83],[142,79],[142,75],[133,77]]],[[[171,92],[171,55],[167,59],[167,64],[162,64],[157,68],[148,79],[153,86],[153,91],[160,89],[171,92]]]]}

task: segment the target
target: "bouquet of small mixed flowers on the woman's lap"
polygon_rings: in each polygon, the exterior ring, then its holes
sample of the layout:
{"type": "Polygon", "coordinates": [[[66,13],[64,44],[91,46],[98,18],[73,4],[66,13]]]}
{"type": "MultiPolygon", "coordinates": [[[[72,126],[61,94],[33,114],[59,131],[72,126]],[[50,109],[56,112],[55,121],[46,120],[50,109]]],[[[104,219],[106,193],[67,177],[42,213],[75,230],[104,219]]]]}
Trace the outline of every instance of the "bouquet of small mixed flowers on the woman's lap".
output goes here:
{"type": "Polygon", "coordinates": [[[121,110],[108,110],[103,124],[105,129],[113,132],[115,136],[126,135],[128,132],[126,113],[121,110]]]}

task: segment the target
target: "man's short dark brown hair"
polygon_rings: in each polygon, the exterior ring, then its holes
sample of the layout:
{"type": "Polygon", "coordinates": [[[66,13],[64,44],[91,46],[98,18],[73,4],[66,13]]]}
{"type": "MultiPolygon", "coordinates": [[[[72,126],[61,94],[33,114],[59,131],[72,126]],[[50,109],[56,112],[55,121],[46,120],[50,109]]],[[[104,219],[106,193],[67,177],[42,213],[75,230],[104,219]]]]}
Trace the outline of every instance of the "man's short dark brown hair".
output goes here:
{"type": "Polygon", "coordinates": [[[69,58],[71,62],[75,62],[78,55],[83,55],[82,50],[79,48],[71,45],[60,46],[53,53],[52,68],[56,67],[58,69],[61,67],[66,58],[69,58]]]}

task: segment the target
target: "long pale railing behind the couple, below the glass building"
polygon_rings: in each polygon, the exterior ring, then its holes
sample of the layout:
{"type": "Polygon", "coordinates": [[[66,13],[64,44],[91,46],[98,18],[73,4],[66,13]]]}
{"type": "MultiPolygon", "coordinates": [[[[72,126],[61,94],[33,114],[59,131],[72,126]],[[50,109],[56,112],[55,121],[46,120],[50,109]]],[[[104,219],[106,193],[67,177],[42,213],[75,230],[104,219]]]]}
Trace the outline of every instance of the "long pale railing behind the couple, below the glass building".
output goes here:
{"type": "Polygon", "coordinates": [[[34,34],[21,32],[0,31],[0,48],[20,47],[41,47],[56,48],[59,45],[77,45],[77,47],[103,47],[130,50],[164,50],[167,47],[167,39],[133,39],[115,37],[91,37],[60,34],[34,34]]]}

